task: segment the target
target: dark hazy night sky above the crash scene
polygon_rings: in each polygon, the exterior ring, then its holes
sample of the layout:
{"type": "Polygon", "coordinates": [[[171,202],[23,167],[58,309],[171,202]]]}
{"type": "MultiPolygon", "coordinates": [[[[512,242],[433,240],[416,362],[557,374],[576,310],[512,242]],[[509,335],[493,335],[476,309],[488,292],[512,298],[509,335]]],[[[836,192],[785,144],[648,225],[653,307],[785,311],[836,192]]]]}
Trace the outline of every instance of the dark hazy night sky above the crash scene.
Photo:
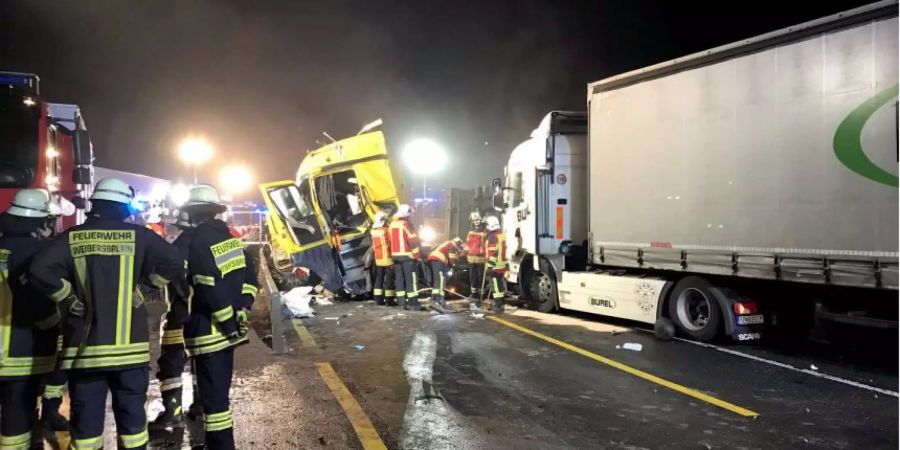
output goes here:
{"type": "Polygon", "coordinates": [[[322,131],[380,117],[395,154],[448,148],[434,184],[470,186],[589,82],[864,3],[0,0],[0,69],[79,104],[104,167],[183,178],[175,147],[202,133],[207,181],[222,161],[293,178],[322,131]]]}

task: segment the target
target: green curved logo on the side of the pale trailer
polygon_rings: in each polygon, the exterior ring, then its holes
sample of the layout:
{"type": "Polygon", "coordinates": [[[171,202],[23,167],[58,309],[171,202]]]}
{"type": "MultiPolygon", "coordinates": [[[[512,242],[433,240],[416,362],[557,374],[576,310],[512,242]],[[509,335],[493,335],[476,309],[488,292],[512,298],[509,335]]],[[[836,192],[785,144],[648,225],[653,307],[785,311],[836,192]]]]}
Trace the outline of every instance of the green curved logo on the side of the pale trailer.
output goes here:
{"type": "Polygon", "coordinates": [[[878,183],[897,187],[894,175],[866,156],[862,148],[862,130],[879,108],[897,97],[898,85],[889,87],[863,102],[838,125],[834,133],[834,154],[848,169],[878,183]]]}

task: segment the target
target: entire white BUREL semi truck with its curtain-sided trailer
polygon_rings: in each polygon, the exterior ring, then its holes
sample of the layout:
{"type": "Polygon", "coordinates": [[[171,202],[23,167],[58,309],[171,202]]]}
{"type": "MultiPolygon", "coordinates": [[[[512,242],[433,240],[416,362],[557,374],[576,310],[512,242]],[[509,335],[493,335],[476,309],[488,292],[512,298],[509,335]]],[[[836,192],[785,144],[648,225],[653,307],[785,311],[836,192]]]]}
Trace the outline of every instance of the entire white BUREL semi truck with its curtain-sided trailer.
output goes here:
{"type": "Polygon", "coordinates": [[[897,93],[896,1],[591,83],[510,155],[508,280],[699,340],[896,330],[897,93]]]}

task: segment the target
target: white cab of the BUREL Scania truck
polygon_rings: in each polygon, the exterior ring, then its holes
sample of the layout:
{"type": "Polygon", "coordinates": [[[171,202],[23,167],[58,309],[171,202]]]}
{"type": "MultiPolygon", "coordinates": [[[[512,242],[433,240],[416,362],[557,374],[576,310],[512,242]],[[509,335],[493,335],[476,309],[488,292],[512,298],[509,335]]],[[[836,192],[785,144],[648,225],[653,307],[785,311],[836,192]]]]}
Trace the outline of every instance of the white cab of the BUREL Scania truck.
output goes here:
{"type": "Polygon", "coordinates": [[[552,309],[559,274],[584,264],[575,255],[587,240],[587,114],[548,113],[504,172],[507,281],[537,309],[552,309]]]}

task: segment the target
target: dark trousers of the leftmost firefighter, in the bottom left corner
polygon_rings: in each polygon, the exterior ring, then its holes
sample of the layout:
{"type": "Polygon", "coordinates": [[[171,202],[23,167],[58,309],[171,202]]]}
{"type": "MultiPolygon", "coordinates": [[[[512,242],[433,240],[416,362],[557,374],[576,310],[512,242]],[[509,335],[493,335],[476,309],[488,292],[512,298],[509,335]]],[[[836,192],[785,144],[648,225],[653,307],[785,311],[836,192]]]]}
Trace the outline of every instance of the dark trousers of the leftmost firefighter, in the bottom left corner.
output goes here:
{"type": "MultiPolygon", "coordinates": [[[[32,429],[37,420],[37,397],[40,377],[0,378],[0,448],[31,447],[32,429]]],[[[39,436],[34,436],[38,438],[39,436]]]]}

